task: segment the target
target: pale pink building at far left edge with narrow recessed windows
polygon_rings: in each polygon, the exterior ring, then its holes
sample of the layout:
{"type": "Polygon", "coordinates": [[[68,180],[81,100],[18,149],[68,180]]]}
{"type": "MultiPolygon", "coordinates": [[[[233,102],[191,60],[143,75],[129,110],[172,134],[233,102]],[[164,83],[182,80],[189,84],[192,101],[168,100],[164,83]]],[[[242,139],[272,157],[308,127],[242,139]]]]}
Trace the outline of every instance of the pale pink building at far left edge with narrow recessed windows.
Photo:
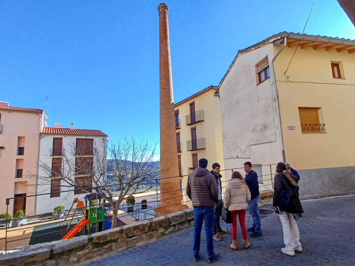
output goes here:
{"type": "Polygon", "coordinates": [[[9,201],[8,213],[12,216],[23,210],[34,214],[36,192],[39,134],[43,126],[44,111],[11,107],[0,102],[0,213],[6,212],[5,201],[9,201]]]}

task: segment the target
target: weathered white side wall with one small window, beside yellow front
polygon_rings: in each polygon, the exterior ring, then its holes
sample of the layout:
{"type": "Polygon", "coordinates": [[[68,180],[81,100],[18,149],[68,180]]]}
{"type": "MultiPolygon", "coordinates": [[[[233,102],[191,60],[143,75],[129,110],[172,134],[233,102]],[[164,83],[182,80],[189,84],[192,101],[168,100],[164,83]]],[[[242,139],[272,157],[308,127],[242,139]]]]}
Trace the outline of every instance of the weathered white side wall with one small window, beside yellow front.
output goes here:
{"type": "MultiPolygon", "coordinates": [[[[244,174],[242,167],[246,161],[261,165],[283,161],[273,56],[272,43],[240,55],[220,85],[225,169],[240,168],[237,171],[244,174]],[[265,56],[269,60],[270,78],[257,85],[255,66],[265,56]]],[[[275,166],[271,171],[264,166],[262,172],[269,174],[264,179],[271,179],[275,166]]]]}

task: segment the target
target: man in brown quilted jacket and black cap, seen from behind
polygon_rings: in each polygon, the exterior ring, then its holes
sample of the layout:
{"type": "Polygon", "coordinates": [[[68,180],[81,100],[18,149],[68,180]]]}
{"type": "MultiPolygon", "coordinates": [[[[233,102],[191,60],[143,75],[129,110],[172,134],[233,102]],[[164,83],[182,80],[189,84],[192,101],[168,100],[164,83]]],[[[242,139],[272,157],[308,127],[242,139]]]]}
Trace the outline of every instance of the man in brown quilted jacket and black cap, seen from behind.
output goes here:
{"type": "Polygon", "coordinates": [[[207,169],[207,160],[200,159],[198,167],[189,175],[186,194],[192,200],[195,231],[193,233],[193,260],[198,261],[200,253],[201,229],[204,221],[206,231],[208,262],[218,260],[219,253],[213,251],[214,205],[218,200],[218,186],[213,174],[207,169]]]}

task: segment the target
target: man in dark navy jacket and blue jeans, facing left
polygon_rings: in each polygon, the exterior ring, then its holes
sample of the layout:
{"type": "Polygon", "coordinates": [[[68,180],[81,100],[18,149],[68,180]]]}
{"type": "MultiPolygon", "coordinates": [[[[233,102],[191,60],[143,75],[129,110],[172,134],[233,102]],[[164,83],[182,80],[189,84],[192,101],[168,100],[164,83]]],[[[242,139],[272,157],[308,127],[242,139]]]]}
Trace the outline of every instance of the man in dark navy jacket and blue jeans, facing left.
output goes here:
{"type": "Polygon", "coordinates": [[[263,235],[263,231],[261,230],[261,218],[259,214],[259,182],[258,175],[252,169],[251,162],[244,163],[244,171],[245,182],[249,187],[251,199],[248,203],[249,213],[253,218],[253,226],[248,228],[248,232],[252,232],[250,234],[251,237],[261,237],[263,235]]]}

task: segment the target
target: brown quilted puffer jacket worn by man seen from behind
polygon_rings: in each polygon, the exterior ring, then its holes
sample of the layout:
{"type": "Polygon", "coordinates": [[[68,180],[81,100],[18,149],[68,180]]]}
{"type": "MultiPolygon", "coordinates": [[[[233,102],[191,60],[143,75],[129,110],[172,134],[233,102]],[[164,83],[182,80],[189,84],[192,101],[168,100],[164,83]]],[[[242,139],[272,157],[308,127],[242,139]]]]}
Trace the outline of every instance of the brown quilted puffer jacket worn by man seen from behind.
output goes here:
{"type": "Polygon", "coordinates": [[[196,167],[189,175],[186,194],[193,207],[210,207],[218,199],[218,187],[213,174],[206,168],[196,167]]]}

